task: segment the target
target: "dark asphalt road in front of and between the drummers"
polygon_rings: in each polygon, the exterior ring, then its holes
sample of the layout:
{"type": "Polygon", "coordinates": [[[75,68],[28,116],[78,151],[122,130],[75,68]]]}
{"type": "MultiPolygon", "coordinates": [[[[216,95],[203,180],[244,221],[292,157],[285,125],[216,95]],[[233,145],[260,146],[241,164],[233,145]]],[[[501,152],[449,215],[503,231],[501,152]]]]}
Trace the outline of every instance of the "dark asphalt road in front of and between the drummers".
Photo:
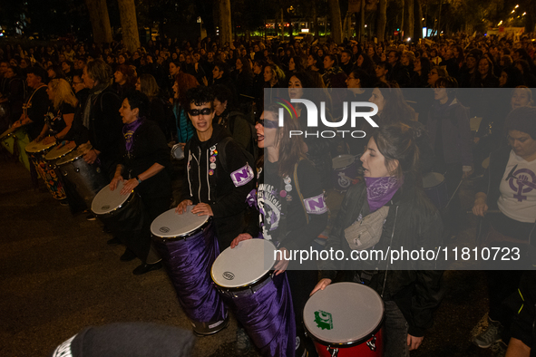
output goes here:
{"type": "MultiPolygon", "coordinates": [[[[121,262],[123,248],[106,244],[111,236],[98,221],[71,215],[44,186],[31,188],[22,165],[1,159],[0,227],[0,356],[47,355],[88,325],[140,321],[190,330],[163,269],[132,275],[139,262],[121,262]]],[[[449,293],[412,356],[492,356],[470,343],[487,311],[482,277],[445,275],[449,293]]],[[[231,319],[226,330],[198,339],[194,356],[235,355],[235,330],[231,319]]]]}

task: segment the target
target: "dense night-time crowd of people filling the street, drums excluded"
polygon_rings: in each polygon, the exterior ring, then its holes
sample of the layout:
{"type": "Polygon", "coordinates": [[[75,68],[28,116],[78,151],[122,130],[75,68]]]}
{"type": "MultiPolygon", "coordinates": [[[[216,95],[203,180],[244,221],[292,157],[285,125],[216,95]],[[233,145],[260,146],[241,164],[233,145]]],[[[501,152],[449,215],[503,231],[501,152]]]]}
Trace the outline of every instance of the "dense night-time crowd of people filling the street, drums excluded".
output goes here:
{"type": "MultiPolygon", "coordinates": [[[[465,228],[458,197],[463,179],[477,186],[474,215],[492,217],[482,220],[491,228],[482,230],[480,242],[530,248],[536,231],[535,51],[529,36],[515,42],[457,36],[435,43],[223,45],[210,38],[167,39],[133,53],[121,42],[6,45],[0,51],[0,129],[24,127],[34,142],[74,141],[112,190],[140,195],[145,218],[110,241],[126,246],[122,260],[141,260],[136,275],[162,266],[149,225],[171,207],[172,144],[184,151],[176,211],[194,206],[192,213],[212,217],[221,251],[258,237],[274,242],[283,256],[311,247],[434,249],[465,228]],[[283,111],[281,126],[275,98],[322,101],[329,121],[346,115],[344,101],[370,101],[379,128],[360,123],[356,129],[365,136],[359,139],[289,138],[288,132],[307,130],[307,108],[294,102],[295,115],[283,111]],[[345,154],[360,159],[362,177],[328,224],[332,159],[345,154]],[[424,194],[430,172],[443,175],[448,203],[424,194]],[[363,234],[356,224],[371,221],[366,247],[353,244],[363,234]]],[[[83,208],[66,196],[73,211],[83,208]]],[[[385,355],[407,356],[423,343],[443,296],[443,273],[434,265],[293,265],[281,259],[274,267],[292,295],[295,319],[287,339],[259,345],[258,331],[239,324],[240,352],[247,352],[250,338],[264,355],[316,355],[301,314],[308,296],[351,281],[384,300],[385,355]]],[[[489,271],[487,277],[489,325],[473,342],[488,348],[511,340],[506,355],[521,356],[515,348],[536,342],[527,330],[533,310],[510,314],[502,303],[529,278],[521,271],[489,271]]]]}

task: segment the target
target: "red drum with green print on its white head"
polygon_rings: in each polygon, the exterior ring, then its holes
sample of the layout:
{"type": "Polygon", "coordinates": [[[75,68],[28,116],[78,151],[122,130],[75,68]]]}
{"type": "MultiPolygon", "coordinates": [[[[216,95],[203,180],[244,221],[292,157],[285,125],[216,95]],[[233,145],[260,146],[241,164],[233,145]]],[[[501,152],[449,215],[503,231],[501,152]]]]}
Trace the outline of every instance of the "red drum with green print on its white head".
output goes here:
{"type": "Polygon", "coordinates": [[[370,287],[327,285],[309,298],[303,314],[307,335],[320,357],[384,355],[384,302],[370,287]]]}

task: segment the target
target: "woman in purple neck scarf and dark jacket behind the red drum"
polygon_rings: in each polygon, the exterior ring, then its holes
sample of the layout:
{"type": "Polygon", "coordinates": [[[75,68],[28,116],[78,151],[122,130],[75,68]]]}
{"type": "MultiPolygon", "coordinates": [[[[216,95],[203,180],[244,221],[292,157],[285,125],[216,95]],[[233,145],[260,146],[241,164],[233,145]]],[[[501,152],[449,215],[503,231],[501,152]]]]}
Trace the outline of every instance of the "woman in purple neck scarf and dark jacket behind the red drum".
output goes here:
{"type": "MultiPolygon", "coordinates": [[[[387,250],[431,249],[441,246],[443,225],[432,202],[420,188],[419,150],[414,132],[403,123],[381,125],[371,133],[361,157],[365,182],[351,186],[341,204],[326,250],[346,257],[362,247],[387,250]],[[362,225],[370,222],[370,225],[362,225]],[[363,231],[359,227],[370,227],[363,231]],[[356,244],[361,242],[361,245],[356,244]]],[[[385,304],[386,357],[409,356],[423,342],[442,297],[442,271],[435,262],[322,260],[322,279],[311,294],[324,290],[345,271],[342,280],[372,287],[385,304]]]]}

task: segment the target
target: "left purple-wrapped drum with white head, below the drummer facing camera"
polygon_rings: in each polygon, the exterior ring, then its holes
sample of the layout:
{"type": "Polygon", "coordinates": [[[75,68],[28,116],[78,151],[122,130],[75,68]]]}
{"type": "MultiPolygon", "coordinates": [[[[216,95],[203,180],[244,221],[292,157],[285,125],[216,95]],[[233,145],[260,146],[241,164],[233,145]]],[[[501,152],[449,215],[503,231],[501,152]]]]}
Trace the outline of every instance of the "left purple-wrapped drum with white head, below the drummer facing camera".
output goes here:
{"type": "Polygon", "coordinates": [[[171,208],[156,217],[151,235],[194,333],[208,335],[227,327],[229,318],[210,280],[218,239],[210,217],[198,217],[191,208],[182,215],[171,208]]]}

